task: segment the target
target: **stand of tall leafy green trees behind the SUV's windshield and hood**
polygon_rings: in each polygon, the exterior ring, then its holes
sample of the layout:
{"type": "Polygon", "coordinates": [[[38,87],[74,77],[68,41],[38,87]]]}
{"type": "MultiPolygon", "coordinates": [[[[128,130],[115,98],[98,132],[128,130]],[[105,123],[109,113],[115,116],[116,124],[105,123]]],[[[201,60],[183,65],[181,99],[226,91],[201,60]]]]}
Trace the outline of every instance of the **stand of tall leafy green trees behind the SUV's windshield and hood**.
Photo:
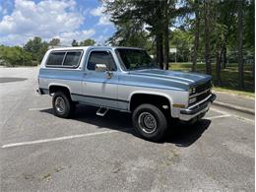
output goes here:
{"type": "Polygon", "coordinates": [[[151,47],[160,68],[164,61],[165,69],[177,57],[177,61],[193,60],[196,71],[199,60],[205,63],[206,73],[217,76],[220,86],[228,57],[239,63],[239,85],[245,58],[253,60],[254,74],[253,0],[102,1],[117,30],[108,39],[110,44],[151,47]],[[171,27],[176,29],[170,31],[171,27]],[[177,54],[169,58],[168,47],[175,47],[177,54]],[[212,72],[212,63],[216,63],[216,72],[212,72]]]}

